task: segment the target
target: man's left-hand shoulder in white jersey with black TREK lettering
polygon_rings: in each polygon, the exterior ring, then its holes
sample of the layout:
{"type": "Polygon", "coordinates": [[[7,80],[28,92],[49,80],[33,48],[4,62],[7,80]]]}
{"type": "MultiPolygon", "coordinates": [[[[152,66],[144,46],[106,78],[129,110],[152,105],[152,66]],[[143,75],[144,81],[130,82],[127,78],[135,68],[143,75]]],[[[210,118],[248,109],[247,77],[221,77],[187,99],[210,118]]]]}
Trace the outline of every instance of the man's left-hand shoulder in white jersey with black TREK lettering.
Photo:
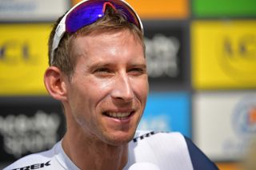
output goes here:
{"type": "Polygon", "coordinates": [[[54,149],[52,148],[44,152],[38,152],[24,156],[3,170],[40,169],[46,167],[50,168],[50,166],[53,165],[53,158],[54,149]]]}

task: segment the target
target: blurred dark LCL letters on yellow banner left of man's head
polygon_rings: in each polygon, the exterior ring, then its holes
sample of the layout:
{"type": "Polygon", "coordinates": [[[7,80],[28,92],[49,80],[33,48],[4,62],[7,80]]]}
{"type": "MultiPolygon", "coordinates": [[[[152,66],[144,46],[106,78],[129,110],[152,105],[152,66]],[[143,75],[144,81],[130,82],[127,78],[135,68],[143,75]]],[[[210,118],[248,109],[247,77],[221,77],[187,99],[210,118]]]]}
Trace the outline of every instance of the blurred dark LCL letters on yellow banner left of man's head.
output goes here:
{"type": "Polygon", "coordinates": [[[9,40],[0,44],[0,62],[6,65],[35,64],[36,55],[31,52],[30,43],[9,40]]]}

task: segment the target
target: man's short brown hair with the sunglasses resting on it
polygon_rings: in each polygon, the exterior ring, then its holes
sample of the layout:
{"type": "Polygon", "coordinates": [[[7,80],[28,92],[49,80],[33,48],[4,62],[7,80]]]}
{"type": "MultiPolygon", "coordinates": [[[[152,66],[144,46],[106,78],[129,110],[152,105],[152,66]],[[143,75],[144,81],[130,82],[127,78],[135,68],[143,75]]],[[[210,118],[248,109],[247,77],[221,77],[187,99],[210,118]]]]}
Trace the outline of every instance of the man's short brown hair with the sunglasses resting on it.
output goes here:
{"type": "Polygon", "coordinates": [[[50,33],[48,43],[49,65],[57,66],[63,73],[66,73],[66,75],[72,75],[74,65],[76,64],[76,58],[70,55],[70,48],[73,45],[72,42],[74,38],[86,34],[103,32],[114,33],[118,30],[130,30],[134,37],[138,38],[145,48],[142,22],[138,18],[138,15],[134,13],[131,6],[126,2],[119,0],[86,0],[74,6],[73,10],[71,9],[58,19],[50,33]],[[73,10],[75,13],[70,12],[73,10]],[[86,14],[80,14],[81,16],[76,14],[81,11],[86,14]],[[127,19],[129,21],[127,21],[127,19]],[[71,22],[67,22],[66,24],[65,20],[70,20],[71,22]],[[84,23],[81,20],[84,20],[84,23]],[[87,20],[90,21],[88,22],[87,20]],[[82,27],[80,28],[80,26],[82,27]],[[63,32],[63,29],[66,31],[63,32]]]}

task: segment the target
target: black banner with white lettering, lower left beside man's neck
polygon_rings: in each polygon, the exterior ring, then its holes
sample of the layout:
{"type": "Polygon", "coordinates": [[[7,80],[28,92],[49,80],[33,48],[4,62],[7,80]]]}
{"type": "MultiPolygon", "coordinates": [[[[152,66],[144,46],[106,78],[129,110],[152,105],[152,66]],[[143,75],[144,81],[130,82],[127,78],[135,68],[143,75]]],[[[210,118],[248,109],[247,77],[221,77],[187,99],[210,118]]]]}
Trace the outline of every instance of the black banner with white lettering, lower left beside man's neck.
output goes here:
{"type": "Polygon", "coordinates": [[[51,148],[64,134],[62,107],[50,97],[1,97],[0,110],[2,162],[51,148]]]}

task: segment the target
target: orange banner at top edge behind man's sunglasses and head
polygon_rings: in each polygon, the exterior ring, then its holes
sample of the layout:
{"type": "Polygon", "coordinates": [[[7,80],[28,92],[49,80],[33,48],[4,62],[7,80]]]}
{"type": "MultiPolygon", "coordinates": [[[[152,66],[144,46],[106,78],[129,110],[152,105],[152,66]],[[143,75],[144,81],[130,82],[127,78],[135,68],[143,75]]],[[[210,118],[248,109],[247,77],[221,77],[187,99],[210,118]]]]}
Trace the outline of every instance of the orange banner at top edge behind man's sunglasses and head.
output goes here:
{"type": "MultiPolygon", "coordinates": [[[[73,0],[72,4],[76,4],[80,0],[73,0]]],[[[140,18],[187,18],[189,15],[188,0],[154,0],[138,1],[126,0],[140,18]]]]}

